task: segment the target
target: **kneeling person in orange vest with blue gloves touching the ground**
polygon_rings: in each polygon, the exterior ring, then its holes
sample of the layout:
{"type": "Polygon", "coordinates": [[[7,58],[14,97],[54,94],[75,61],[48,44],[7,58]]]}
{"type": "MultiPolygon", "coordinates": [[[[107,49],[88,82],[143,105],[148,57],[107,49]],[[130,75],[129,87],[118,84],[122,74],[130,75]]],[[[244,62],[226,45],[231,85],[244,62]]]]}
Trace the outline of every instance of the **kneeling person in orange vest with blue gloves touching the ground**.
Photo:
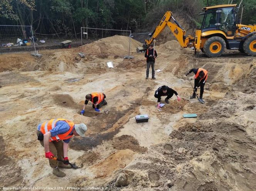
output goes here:
{"type": "Polygon", "coordinates": [[[89,101],[93,102],[93,108],[95,108],[95,111],[100,112],[99,108],[101,108],[104,105],[107,105],[108,103],[105,100],[106,95],[100,92],[94,92],[91,94],[87,94],[85,96],[85,102],[83,110],[81,111],[81,114],[84,114],[84,109],[89,101]]]}

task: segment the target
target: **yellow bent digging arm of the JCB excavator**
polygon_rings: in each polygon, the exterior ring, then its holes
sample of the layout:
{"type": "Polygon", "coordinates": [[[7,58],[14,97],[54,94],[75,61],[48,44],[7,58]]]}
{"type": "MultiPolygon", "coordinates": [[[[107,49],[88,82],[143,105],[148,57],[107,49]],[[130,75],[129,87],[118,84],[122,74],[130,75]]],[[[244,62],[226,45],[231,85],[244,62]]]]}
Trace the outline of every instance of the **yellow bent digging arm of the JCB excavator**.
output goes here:
{"type": "Polygon", "coordinates": [[[156,39],[158,35],[163,31],[163,29],[165,29],[165,27],[167,26],[170,28],[182,48],[192,47],[194,45],[194,37],[186,37],[186,31],[184,30],[184,28],[182,28],[182,26],[175,20],[175,18],[173,18],[172,12],[167,11],[165,15],[163,15],[162,20],[152,32],[150,37],[145,40],[145,44],[143,44],[143,47],[137,48],[137,52],[144,52],[146,49],[148,49],[149,45],[153,42],[153,40],[156,39]]]}

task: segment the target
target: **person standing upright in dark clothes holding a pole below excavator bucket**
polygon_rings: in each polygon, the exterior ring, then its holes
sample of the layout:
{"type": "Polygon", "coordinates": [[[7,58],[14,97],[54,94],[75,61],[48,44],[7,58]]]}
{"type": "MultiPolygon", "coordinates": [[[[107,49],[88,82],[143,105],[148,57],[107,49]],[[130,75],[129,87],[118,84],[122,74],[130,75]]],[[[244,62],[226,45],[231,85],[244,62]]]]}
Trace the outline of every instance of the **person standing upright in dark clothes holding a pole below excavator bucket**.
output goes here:
{"type": "Polygon", "coordinates": [[[149,49],[145,52],[145,57],[147,58],[147,71],[146,79],[148,79],[150,66],[152,68],[152,79],[155,80],[155,58],[157,57],[157,51],[153,49],[153,44],[150,44],[149,49]]]}

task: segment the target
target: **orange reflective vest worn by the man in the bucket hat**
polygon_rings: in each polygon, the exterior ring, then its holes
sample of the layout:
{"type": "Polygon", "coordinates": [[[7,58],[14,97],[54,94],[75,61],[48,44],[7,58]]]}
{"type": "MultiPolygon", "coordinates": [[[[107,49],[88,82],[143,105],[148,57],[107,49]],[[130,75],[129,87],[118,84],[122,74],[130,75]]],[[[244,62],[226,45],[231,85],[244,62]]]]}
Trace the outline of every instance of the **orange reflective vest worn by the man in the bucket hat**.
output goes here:
{"type": "Polygon", "coordinates": [[[59,135],[56,135],[54,137],[50,137],[50,140],[49,140],[50,142],[59,141],[59,140],[66,140],[66,139],[69,139],[73,136],[73,135],[69,135],[69,134],[72,132],[73,127],[74,127],[75,124],[71,121],[68,121],[68,120],[62,119],[62,118],[51,119],[50,121],[42,123],[41,127],[40,127],[40,131],[42,132],[42,134],[45,134],[45,133],[49,132],[51,129],[53,129],[56,126],[57,121],[66,121],[69,124],[70,129],[67,132],[65,132],[64,134],[59,134],[59,135]]]}

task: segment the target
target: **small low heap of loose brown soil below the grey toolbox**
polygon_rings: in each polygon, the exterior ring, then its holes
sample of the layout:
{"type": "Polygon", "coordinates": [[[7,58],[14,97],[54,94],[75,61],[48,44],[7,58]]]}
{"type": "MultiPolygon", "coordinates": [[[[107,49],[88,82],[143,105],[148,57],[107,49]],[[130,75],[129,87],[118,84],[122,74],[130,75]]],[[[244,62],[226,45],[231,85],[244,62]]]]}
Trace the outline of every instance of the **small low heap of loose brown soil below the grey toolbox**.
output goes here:
{"type": "Polygon", "coordinates": [[[113,139],[112,146],[118,150],[130,149],[133,152],[145,152],[147,148],[141,147],[139,142],[132,136],[122,135],[113,139]]]}

